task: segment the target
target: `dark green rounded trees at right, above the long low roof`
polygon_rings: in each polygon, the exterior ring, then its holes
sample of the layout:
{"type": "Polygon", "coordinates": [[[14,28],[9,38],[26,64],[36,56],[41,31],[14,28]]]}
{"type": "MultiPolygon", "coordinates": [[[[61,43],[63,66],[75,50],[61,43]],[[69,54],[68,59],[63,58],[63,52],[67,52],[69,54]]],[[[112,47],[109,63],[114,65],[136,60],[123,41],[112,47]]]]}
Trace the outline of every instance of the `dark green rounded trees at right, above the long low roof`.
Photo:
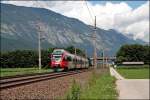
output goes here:
{"type": "Polygon", "coordinates": [[[148,45],[123,45],[117,52],[117,63],[120,64],[122,62],[138,62],[143,61],[145,64],[149,64],[150,61],[150,47],[148,45]]]}

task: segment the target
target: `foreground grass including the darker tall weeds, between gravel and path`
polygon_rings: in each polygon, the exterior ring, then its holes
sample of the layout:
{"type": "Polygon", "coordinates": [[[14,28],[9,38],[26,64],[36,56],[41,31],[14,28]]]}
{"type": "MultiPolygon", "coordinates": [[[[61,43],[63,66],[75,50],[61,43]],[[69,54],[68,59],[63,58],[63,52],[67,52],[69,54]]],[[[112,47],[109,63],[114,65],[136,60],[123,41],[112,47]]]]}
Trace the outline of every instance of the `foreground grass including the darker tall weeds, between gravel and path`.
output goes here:
{"type": "Polygon", "coordinates": [[[68,100],[98,100],[98,99],[117,99],[115,85],[116,79],[108,73],[93,73],[89,83],[85,87],[80,87],[73,83],[71,92],[67,95],[68,100]]]}

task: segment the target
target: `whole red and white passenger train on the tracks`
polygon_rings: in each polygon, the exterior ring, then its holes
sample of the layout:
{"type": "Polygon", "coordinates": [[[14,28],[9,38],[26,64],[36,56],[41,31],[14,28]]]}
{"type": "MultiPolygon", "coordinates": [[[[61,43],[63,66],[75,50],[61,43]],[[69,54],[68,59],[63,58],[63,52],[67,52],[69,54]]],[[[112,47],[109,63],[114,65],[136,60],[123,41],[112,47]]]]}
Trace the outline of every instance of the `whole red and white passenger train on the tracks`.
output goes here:
{"type": "Polygon", "coordinates": [[[88,68],[89,62],[87,58],[76,56],[67,52],[64,49],[54,49],[51,54],[50,66],[52,69],[74,69],[74,68],[88,68]]]}

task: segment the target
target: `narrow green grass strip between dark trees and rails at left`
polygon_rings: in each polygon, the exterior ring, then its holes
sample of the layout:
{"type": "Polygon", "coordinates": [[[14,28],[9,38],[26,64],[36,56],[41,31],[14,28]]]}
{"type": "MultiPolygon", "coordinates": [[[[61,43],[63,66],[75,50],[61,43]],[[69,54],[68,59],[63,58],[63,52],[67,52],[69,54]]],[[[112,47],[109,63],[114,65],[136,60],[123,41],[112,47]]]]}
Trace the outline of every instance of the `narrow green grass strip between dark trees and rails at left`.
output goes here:
{"type": "Polygon", "coordinates": [[[44,73],[44,72],[52,72],[51,69],[41,69],[38,68],[1,68],[0,76],[15,76],[15,75],[23,75],[23,74],[32,74],[32,73],[44,73]]]}

